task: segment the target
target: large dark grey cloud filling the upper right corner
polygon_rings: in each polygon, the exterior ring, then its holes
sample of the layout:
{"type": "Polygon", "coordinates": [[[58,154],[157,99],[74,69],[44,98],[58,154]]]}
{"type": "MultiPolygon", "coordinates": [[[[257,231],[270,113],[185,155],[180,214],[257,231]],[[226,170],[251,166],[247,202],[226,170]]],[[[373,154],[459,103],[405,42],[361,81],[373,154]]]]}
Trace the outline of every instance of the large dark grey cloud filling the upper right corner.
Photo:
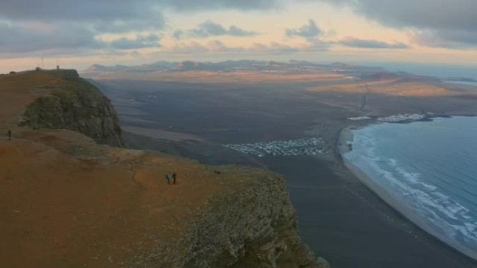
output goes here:
{"type": "MultiPolygon", "coordinates": [[[[312,1],[312,0],[301,0],[312,1]]],[[[315,0],[313,0],[315,1],[315,0]]],[[[477,45],[476,0],[316,0],[349,6],[383,25],[423,31],[421,45],[465,47],[477,45]],[[455,31],[455,34],[451,34],[455,31]]]]}

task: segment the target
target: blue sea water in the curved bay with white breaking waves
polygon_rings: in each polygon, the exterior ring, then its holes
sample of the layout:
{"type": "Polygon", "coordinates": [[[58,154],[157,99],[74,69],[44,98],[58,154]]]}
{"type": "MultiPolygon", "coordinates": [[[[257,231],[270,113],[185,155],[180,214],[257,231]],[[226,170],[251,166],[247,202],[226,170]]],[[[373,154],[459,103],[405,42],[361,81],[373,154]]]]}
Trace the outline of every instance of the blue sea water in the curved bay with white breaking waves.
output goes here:
{"type": "Polygon", "coordinates": [[[477,117],[379,123],[353,134],[345,158],[404,216],[476,258],[477,117]]]}

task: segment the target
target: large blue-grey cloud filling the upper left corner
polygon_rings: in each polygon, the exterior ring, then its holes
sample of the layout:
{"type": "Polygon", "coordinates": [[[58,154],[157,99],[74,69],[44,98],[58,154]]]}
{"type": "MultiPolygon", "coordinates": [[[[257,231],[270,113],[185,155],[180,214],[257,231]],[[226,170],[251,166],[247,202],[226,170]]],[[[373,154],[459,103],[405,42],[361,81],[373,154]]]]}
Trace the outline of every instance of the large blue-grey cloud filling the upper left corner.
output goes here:
{"type": "Polygon", "coordinates": [[[151,0],[2,0],[0,19],[13,23],[74,22],[99,33],[157,30],[166,26],[157,2],[151,0]]]}

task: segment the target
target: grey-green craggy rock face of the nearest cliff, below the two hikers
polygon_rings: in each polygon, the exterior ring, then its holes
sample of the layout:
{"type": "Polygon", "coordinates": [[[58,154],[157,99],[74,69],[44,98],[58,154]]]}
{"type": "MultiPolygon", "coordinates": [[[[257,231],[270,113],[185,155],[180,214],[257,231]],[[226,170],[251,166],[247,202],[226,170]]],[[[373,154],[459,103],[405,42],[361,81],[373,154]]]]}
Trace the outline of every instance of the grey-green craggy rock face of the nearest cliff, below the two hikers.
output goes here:
{"type": "MultiPolygon", "coordinates": [[[[243,168],[243,171],[248,168],[243,168]]],[[[185,235],[136,255],[132,267],[328,268],[298,237],[285,179],[261,171],[209,200],[185,235]],[[152,266],[151,266],[152,267],[152,266]]]]}

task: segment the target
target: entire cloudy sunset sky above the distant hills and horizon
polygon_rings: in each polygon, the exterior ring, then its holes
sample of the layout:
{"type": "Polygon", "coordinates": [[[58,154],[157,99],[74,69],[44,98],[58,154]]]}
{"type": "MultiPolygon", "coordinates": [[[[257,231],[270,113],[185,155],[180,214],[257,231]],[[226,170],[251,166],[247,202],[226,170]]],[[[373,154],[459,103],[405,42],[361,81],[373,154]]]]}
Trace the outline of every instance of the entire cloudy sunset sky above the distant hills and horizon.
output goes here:
{"type": "Polygon", "coordinates": [[[476,0],[1,0],[0,73],[229,59],[476,66],[476,10],[476,0]]]}

